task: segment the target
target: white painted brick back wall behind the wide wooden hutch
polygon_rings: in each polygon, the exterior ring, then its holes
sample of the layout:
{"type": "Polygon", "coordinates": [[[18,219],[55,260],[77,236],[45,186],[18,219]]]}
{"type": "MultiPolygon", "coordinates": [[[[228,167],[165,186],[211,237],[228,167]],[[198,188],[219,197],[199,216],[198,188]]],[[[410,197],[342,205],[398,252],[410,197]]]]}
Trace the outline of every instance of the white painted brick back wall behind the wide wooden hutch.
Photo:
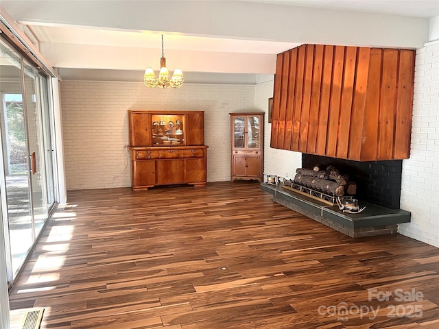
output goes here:
{"type": "Polygon", "coordinates": [[[229,112],[254,110],[254,86],[61,84],[67,189],[131,186],[127,110],[203,110],[208,182],[230,180],[229,112]]]}

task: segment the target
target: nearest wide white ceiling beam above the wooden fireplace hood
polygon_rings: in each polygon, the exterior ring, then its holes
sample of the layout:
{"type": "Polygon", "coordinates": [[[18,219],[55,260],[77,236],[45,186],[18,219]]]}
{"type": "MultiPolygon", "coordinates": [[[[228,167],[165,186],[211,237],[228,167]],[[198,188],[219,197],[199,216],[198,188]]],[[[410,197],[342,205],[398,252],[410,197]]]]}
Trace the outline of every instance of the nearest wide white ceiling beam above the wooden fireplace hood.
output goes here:
{"type": "Polygon", "coordinates": [[[408,49],[428,41],[428,19],[272,3],[3,0],[2,5],[14,19],[29,24],[408,49]]]}

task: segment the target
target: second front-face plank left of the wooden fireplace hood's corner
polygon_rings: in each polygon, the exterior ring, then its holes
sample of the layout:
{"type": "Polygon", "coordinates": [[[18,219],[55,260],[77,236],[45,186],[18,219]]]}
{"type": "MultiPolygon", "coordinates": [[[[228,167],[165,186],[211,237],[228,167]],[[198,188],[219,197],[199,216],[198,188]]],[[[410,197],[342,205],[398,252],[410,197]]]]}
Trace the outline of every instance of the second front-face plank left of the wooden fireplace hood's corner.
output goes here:
{"type": "Polygon", "coordinates": [[[337,158],[348,157],[349,130],[351,128],[351,111],[357,62],[357,47],[346,47],[344,58],[342,101],[337,134],[337,158]]]}

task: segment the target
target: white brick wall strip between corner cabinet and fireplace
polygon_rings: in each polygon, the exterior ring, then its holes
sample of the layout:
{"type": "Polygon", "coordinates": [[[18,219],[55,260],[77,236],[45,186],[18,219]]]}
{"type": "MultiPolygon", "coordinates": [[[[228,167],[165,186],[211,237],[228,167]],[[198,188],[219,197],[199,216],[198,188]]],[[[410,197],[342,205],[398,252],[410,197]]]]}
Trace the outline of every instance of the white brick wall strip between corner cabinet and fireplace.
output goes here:
{"type": "Polygon", "coordinates": [[[264,130],[264,173],[294,178],[296,168],[302,167],[302,154],[300,152],[272,149],[270,138],[272,124],[268,123],[268,99],[273,97],[274,81],[265,82],[255,87],[254,106],[265,111],[264,130]]]}

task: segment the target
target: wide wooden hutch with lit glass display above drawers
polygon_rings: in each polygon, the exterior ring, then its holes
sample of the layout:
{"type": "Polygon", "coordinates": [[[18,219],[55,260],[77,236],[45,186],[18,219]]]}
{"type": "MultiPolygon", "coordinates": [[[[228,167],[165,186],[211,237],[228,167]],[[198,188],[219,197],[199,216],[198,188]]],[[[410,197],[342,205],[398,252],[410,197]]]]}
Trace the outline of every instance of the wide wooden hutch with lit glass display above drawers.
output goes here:
{"type": "Polygon", "coordinates": [[[204,112],[128,111],[132,189],[206,184],[204,112]]]}

